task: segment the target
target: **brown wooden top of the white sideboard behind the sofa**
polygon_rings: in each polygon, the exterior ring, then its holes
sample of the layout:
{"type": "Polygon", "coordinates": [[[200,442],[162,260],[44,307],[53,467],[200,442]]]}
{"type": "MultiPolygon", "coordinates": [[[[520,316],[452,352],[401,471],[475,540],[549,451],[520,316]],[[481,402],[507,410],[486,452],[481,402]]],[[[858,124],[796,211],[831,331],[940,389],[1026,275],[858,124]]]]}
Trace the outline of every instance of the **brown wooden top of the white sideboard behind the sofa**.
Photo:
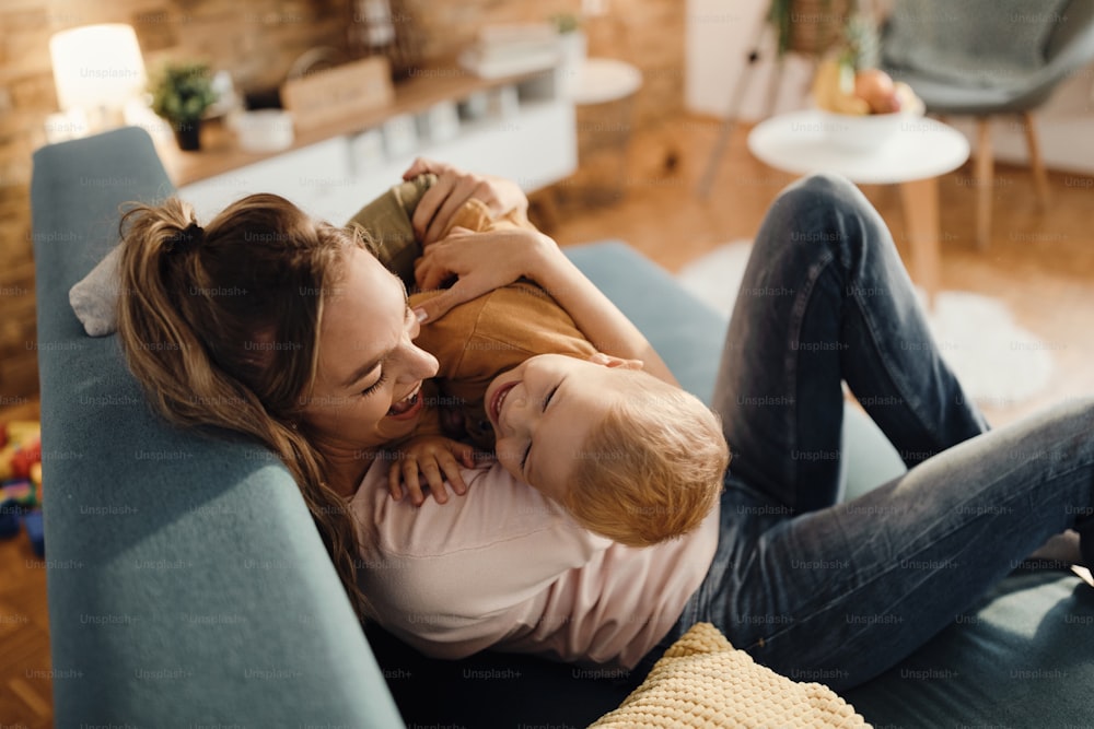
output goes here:
{"type": "Polygon", "coordinates": [[[395,102],[389,106],[296,132],[292,145],[283,150],[245,152],[236,145],[234,134],[219,120],[209,121],[202,128],[199,152],[182,152],[173,141],[161,143],[158,149],[172,181],[176,187],[182,187],[334,137],[365,131],[399,115],[419,114],[434,104],[464,99],[480,92],[524,83],[551,73],[554,70],[548,69],[498,79],[480,79],[464,71],[455,62],[431,66],[420,69],[407,81],[395,84],[395,102]]]}

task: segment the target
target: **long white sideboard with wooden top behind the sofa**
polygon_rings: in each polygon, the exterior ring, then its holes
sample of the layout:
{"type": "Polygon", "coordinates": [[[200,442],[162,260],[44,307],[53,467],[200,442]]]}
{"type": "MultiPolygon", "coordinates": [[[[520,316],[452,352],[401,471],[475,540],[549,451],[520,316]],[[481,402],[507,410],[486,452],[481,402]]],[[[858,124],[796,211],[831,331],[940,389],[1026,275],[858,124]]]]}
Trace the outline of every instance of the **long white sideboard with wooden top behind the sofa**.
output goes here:
{"type": "Polygon", "coordinates": [[[559,87],[552,71],[491,80],[422,71],[396,85],[392,106],[298,134],[283,152],[243,152],[213,128],[200,152],[166,142],[161,155],[202,222],[245,195],[275,192],[340,224],[398,183],[417,156],[508,177],[525,191],[571,175],[574,107],[559,87]]]}

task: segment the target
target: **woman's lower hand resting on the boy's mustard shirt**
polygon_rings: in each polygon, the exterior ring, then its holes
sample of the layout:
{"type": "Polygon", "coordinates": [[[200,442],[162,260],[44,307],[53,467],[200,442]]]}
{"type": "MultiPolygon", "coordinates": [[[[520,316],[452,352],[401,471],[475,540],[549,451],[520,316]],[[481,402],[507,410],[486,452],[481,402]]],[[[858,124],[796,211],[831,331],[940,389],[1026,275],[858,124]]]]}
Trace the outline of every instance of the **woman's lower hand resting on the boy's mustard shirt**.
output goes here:
{"type": "Polygon", "coordinates": [[[423,291],[451,287],[416,309],[420,321],[440,319],[452,307],[513,283],[522,277],[537,281],[555,258],[565,258],[558,245],[529,228],[474,233],[455,228],[415,261],[415,280],[423,291]]]}

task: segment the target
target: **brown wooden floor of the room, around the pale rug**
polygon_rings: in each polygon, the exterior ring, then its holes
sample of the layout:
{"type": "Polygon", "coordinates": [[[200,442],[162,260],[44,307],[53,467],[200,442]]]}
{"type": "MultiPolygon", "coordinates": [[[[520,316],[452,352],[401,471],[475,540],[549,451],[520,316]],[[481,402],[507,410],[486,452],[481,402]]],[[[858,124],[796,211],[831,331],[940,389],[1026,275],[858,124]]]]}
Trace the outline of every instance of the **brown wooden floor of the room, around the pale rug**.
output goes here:
{"type": "MultiPolygon", "coordinates": [[[[793,178],[753,160],[744,145],[747,129],[738,128],[719,165],[714,192],[698,199],[697,180],[718,129],[715,121],[682,117],[636,136],[618,199],[593,208],[579,202],[587,199],[584,186],[619,181],[616,161],[606,156],[592,161],[573,185],[556,190],[563,200],[554,210],[537,204],[539,222],[549,224],[562,245],[621,238],[672,271],[723,243],[753,237],[767,205],[793,178]]],[[[992,240],[984,251],[974,245],[970,167],[941,181],[943,290],[1003,299],[1020,326],[1052,348],[1056,360],[1054,383],[1041,397],[986,408],[994,424],[1052,400],[1094,392],[1091,181],[1054,173],[1051,201],[1038,211],[1028,173],[999,168],[992,240]]],[[[864,190],[903,248],[897,190],[864,190]]],[[[27,416],[37,416],[36,403],[16,413],[0,411],[3,420],[27,416]]],[[[21,534],[0,542],[0,722],[51,725],[49,669],[45,569],[21,534]]]]}

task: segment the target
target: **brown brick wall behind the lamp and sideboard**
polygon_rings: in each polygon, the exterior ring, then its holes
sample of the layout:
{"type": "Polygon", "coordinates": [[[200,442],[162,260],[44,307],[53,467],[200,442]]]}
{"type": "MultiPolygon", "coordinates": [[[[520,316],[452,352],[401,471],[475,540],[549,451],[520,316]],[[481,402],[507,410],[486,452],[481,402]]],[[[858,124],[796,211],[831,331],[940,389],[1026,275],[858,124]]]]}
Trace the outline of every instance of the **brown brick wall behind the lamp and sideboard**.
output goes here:
{"type": "MultiPolygon", "coordinates": [[[[277,86],[316,46],[342,47],[349,0],[4,0],[0,4],[0,408],[37,393],[31,153],[57,110],[49,37],[106,22],[131,24],[154,71],[166,58],[203,58],[231,71],[242,91],[277,86]]],[[[684,12],[678,0],[610,0],[590,19],[590,54],[639,66],[645,84],[636,126],[683,107],[684,12]]],[[[400,30],[424,57],[452,56],[484,23],[544,20],[580,0],[394,0],[400,30]]]]}

